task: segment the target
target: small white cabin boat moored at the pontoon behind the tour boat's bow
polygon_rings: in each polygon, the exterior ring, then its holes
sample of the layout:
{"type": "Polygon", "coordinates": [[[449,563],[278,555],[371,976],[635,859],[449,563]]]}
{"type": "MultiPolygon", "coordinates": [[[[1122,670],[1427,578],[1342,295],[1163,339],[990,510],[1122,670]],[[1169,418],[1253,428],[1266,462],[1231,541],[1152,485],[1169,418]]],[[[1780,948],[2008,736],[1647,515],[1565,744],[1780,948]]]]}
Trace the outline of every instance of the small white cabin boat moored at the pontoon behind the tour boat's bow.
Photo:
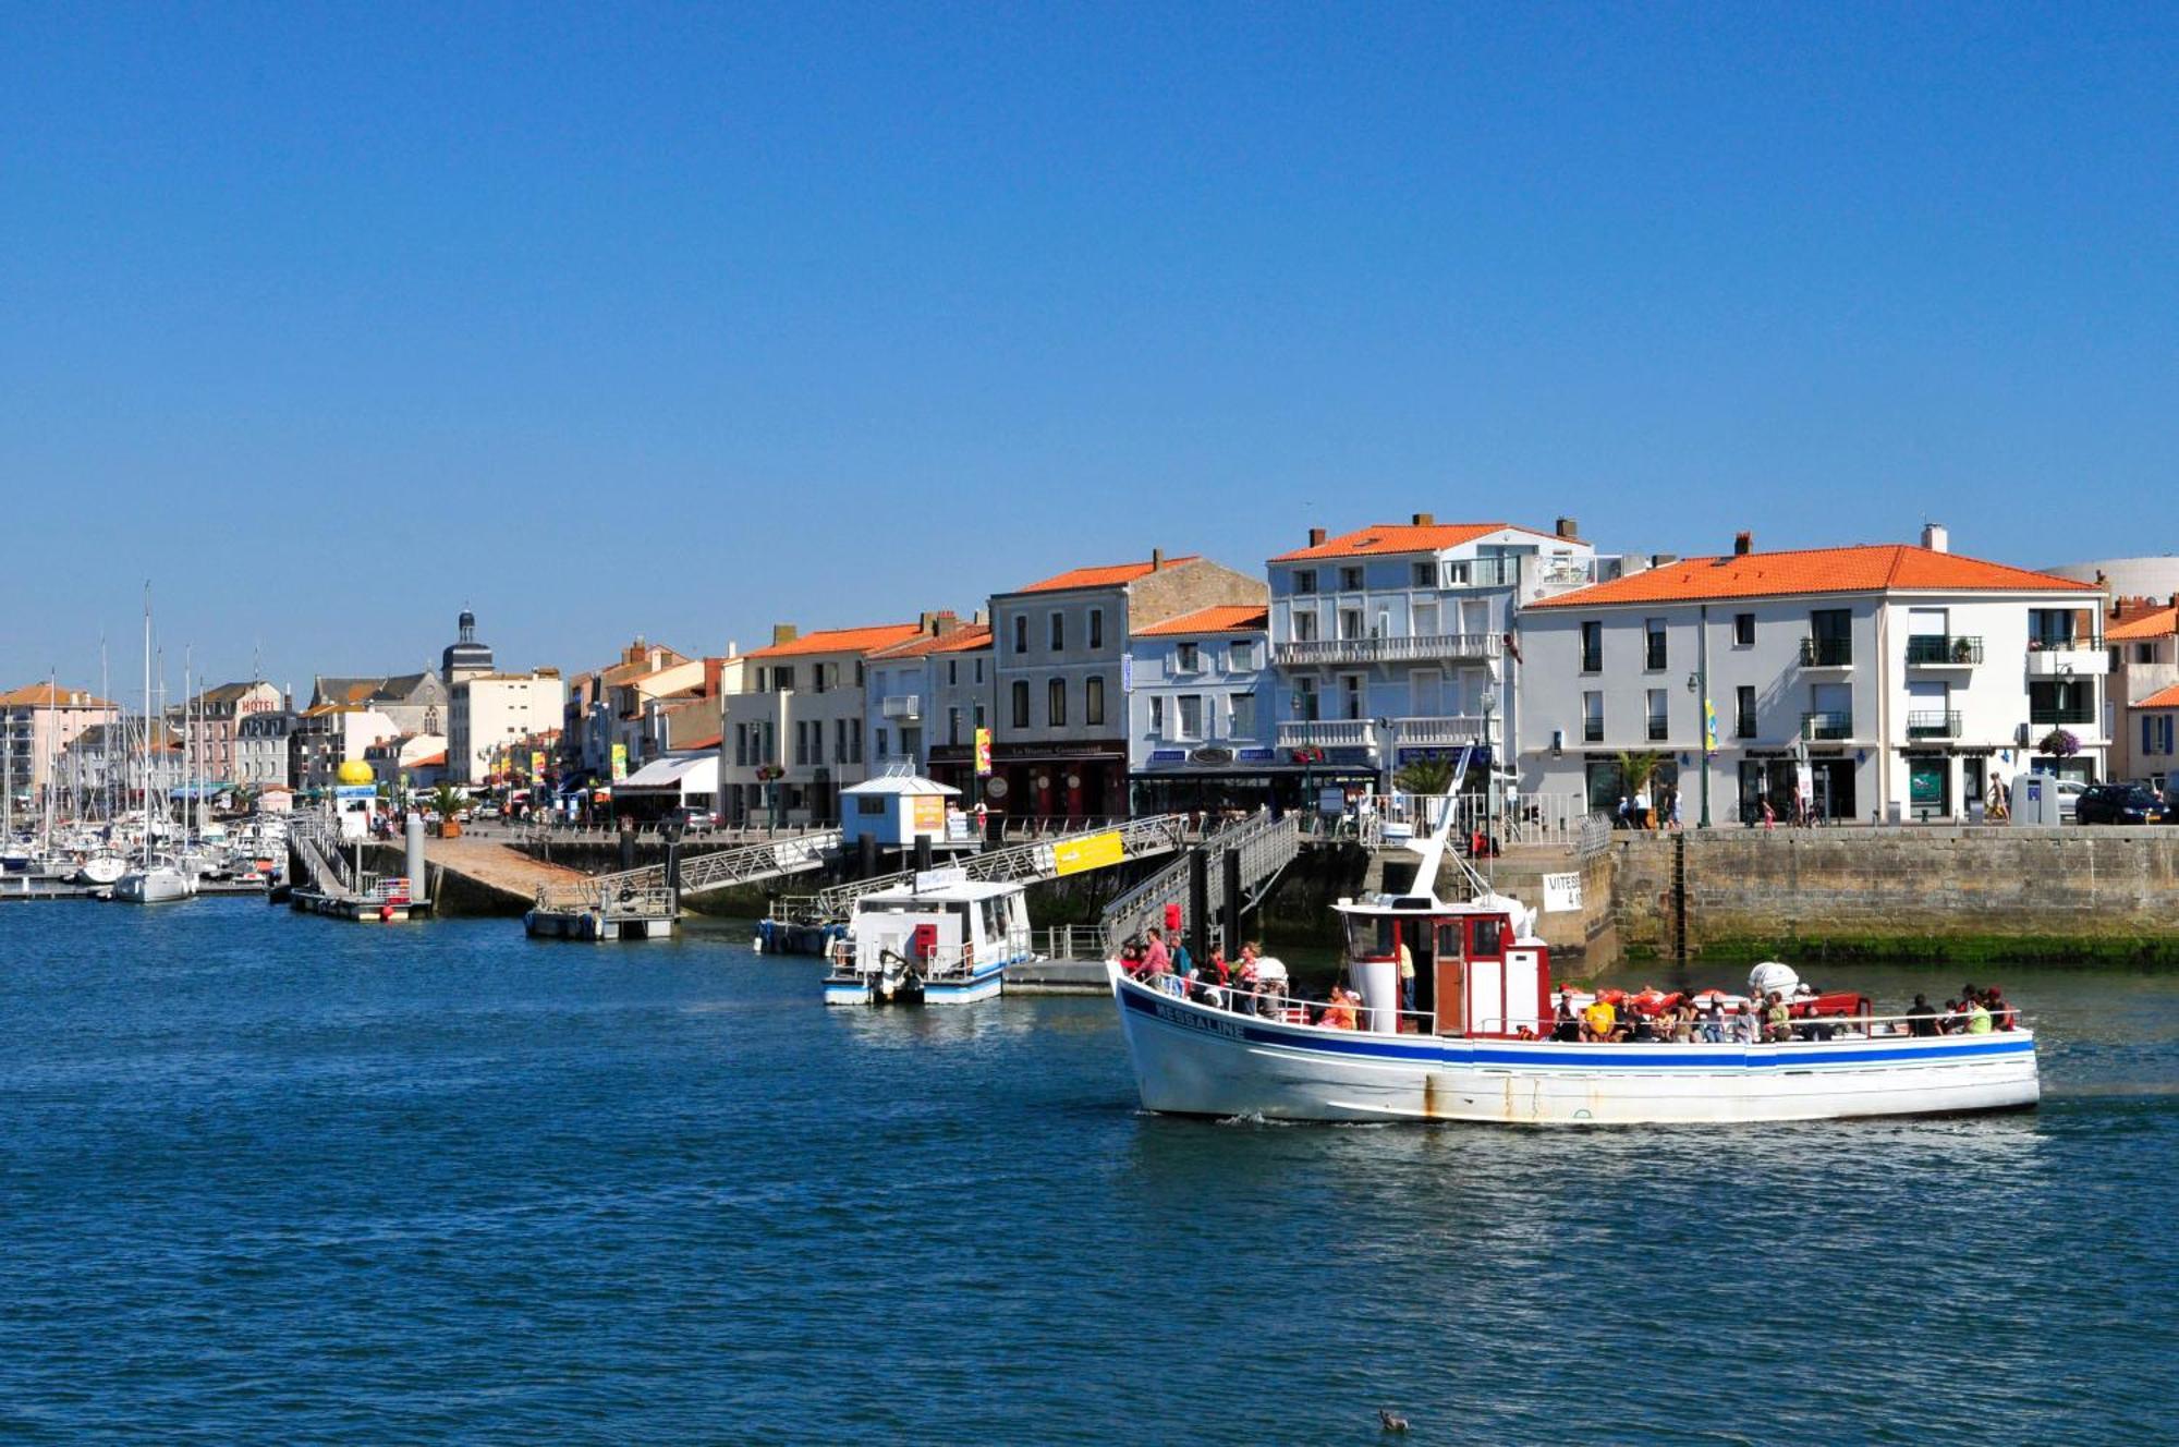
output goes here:
{"type": "Polygon", "coordinates": [[[967,1005],[998,994],[1007,965],[1037,959],[1022,885],[933,870],[865,893],[832,946],[826,1005],[967,1005]]]}

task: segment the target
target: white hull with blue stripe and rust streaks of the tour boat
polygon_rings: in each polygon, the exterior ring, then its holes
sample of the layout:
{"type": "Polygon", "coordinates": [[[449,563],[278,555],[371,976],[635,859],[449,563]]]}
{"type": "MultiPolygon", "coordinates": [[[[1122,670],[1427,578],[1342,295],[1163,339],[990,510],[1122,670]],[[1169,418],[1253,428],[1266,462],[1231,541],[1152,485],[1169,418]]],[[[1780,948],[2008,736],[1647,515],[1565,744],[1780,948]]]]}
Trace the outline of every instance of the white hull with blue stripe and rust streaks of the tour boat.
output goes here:
{"type": "Polygon", "coordinates": [[[1142,1105],[1268,1120],[1732,1124],[2024,1109],[2031,1031],[1791,1044],[1438,1039],[1279,1024],[1107,965],[1142,1105]]]}

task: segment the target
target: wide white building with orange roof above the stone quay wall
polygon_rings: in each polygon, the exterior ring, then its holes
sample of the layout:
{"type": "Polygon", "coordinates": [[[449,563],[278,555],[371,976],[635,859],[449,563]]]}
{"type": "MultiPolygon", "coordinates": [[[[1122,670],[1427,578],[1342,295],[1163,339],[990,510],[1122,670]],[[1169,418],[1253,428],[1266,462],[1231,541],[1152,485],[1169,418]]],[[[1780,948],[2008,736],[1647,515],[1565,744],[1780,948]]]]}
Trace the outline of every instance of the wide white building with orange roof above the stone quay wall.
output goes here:
{"type": "Polygon", "coordinates": [[[1656,761],[1652,804],[1700,813],[1704,697],[1711,819],[1955,819],[2020,769],[2096,778],[2103,723],[2094,584],[1922,545],[1732,554],[1525,601],[1517,769],[1523,791],[1617,811],[1621,756],[1656,761]],[[2046,752],[2064,743],[2072,752],[2046,752]],[[1802,769],[1806,765],[1806,769],[1802,769]]]}

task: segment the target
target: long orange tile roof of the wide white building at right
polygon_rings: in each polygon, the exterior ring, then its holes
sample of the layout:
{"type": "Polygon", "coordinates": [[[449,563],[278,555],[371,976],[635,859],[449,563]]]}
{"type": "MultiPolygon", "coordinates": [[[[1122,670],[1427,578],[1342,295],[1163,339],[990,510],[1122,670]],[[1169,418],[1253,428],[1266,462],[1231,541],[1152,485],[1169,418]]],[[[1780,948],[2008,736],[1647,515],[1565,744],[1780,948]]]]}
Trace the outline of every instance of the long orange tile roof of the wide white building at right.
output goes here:
{"type": "Polygon", "coordinates": [[[1687,558],[1660,569],[1547,597],[1530,608],[1680,604],[1721,597],[1798,597],[1804,593],[2096,593],[2094,584],[1926,547],[1874,543],[1785,554],[1687,558]]]}

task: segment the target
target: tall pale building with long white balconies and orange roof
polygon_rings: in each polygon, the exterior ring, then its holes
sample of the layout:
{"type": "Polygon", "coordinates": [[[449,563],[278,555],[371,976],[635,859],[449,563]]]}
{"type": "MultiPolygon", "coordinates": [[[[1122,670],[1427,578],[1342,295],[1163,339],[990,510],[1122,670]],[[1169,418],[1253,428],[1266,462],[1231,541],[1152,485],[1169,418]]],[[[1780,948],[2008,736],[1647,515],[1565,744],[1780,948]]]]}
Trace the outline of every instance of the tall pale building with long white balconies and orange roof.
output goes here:
{"type": "Polygon", "coordinates": [[[1312,527],[1268,569],[1279,769],[1386,791],[1401,767],[1469,745],[1490,763],[1519,728],[1514,608],[1612,577],[1619,560],[1597,558],[1573,519],[1538,532],[1416,512],[1340,536],[1312,527]]]}

